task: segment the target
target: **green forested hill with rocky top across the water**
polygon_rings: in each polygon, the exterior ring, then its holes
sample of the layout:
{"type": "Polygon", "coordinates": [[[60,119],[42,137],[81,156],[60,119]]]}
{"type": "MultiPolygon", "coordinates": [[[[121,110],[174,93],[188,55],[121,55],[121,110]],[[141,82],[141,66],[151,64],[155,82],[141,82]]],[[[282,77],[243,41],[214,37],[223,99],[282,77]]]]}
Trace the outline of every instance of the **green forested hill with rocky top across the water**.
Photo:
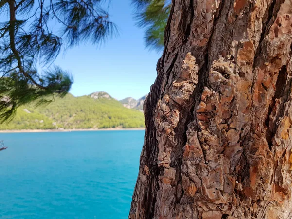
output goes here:
{"type": "Polygon", "coordinates": [[[10,123],[0,130],[55,128],[142,128],[144,116],[139,110],[127,109],[107,93],[74,97],[68,94],[46,106],[34,104],[18,108],[10,123]]]}

